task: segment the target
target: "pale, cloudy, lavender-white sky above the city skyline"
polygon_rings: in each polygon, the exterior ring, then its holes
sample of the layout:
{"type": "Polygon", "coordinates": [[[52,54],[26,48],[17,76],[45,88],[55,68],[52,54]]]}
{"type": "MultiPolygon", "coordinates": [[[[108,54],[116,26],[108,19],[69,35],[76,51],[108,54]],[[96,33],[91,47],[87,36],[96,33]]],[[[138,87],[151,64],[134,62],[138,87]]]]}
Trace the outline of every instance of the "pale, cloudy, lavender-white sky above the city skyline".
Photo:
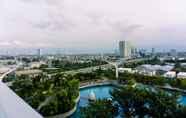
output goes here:
{"type": "Polygon", "coordinates": [[[186,50],[185,0],[0,0],[0,49],[186,50]]]}

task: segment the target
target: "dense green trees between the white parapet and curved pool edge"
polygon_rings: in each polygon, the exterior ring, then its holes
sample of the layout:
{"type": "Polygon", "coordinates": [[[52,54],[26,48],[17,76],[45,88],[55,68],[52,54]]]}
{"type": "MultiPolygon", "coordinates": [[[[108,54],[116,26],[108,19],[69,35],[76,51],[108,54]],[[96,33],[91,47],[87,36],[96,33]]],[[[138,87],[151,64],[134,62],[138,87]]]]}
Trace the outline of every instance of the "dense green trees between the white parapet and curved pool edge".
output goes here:
{"type": "Polygon", "coordinates": [[[43,116],[68,112],[79,96],[79,81],[63,74],[17,79],[11,88],[43,116]]]}

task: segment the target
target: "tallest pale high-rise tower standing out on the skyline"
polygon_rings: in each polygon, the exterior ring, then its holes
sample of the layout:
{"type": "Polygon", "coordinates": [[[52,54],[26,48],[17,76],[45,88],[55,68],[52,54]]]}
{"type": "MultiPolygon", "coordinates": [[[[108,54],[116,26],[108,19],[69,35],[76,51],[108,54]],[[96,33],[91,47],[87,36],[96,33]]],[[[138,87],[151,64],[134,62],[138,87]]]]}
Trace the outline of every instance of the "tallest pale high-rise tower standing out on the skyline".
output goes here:
{"type": "Polygon", "coordinates": [[[131,58],[134,54],[134,47],[128,41],[119,42],[119,51],[121,58],[131,58]]]}

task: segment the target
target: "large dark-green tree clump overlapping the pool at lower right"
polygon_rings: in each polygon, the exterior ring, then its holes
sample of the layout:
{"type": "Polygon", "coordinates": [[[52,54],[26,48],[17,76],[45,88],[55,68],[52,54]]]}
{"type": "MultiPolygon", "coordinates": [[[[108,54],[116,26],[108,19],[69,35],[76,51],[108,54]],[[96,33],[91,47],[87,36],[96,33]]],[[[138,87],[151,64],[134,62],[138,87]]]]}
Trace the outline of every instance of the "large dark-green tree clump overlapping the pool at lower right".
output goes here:
{"type": "Polygon", "coordinates": [[[122,107],[126,117],[174,118],[180,109],[177,107],[177,97],[164,91],[150,91],[131,86],[114,89],[111,92],[114,101],[122,107]]]}

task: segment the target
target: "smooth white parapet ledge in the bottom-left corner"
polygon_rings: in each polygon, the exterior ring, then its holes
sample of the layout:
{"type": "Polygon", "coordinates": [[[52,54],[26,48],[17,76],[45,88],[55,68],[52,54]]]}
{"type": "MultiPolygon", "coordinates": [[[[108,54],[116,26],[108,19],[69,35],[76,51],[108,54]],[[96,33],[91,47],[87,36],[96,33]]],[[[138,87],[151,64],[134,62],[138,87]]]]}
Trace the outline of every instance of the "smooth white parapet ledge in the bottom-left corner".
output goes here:
{"type": "Polygon", "coordinates": [[[0,81],[0,118],[43,118],[0,81]]]}

